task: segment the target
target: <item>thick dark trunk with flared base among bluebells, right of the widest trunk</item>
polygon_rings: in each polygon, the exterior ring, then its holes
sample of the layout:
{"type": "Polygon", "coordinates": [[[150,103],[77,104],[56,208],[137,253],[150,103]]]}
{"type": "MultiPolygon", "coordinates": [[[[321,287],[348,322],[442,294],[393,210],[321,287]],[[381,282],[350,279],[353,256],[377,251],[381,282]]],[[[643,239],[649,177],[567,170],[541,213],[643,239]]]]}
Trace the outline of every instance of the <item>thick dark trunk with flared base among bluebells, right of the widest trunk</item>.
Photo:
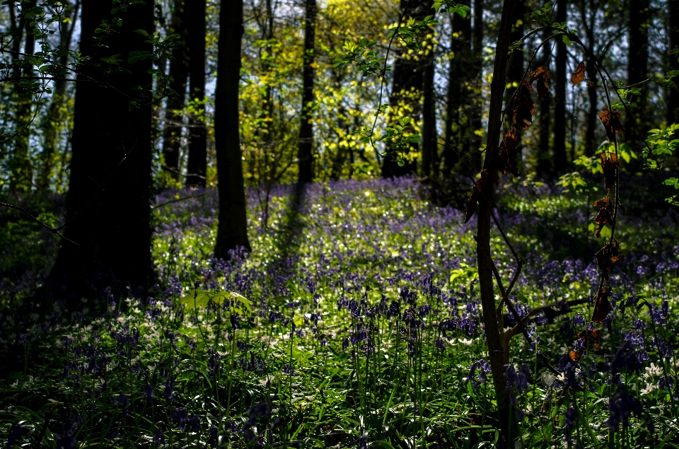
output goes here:
{"type": "Polygon", "coordinates": [[[214,255],[222,259],[239,247],[250,251],[238,107],[243,31],[243,0],[222,0],[214,103],[214,146],[219,175],[219,227],[214,255]]]}

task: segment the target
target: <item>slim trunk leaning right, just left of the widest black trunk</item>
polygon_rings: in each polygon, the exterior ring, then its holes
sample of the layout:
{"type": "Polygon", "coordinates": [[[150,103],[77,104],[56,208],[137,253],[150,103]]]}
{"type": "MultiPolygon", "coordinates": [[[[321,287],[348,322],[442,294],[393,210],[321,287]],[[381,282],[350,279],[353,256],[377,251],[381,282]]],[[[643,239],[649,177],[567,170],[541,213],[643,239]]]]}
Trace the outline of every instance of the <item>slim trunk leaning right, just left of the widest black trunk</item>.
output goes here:
{"type": "MultiPolygon", "coordinates": [[[[80,9],[80,0],[76,0],[75,5],[69,4],[69,7],[64,10],[64,19],[62,23],[62,34],[59,45],[64,51],[59,57],[59,67],[66,68],[69,64],[69,50],[71,49],[71,38],[76,25],[74,18],[78,16],[80,9]]],[[[47,116],[45,122],[42,124],[42,135],[44,136],[43,148],[41,154],[42,167],[40,168],[40,175],[37,179],[37,187],[45,190],[50,186],[50,177],[52,176],[52,168],[54,168],[54,155],[57,152],[57,145],[59,144],[59,132],[62,130],[62,125],[66,119],[64,103],[66,103],[66,81],[63,77],[57,78],[54,81],[54,88],[52,89],[52,102],[47,109],[47,116]]]]}

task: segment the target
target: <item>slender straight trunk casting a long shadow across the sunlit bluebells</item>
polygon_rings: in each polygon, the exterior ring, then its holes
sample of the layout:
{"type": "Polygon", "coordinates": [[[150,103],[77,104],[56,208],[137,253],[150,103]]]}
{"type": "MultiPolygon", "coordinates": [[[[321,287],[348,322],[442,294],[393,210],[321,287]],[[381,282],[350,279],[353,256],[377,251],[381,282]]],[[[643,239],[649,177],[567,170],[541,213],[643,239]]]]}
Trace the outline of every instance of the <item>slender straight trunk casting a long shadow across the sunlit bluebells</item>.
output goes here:
{"type": "Polygon", "coordinates": [[[297,147],[299,183],[313,180],[313,60],[316,29],[316,0],[306,0],[304,15],[304,60],[302,73],[302,111],[297,147]]]}

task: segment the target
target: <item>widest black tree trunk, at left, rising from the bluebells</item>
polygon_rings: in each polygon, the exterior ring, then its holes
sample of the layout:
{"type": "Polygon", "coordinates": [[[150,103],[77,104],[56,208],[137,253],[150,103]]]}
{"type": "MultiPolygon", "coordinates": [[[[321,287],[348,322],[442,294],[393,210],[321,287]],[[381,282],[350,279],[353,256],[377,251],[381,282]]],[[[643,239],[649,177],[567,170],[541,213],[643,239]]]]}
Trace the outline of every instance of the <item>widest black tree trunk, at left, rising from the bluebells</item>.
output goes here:
{"type": "MultiPolygon", "coordinates": [[[[101,21],[111,20],[105,1],[85,0],[81,19],[81,53],[99,57],[151,51],[153,3],[129,6],[122,27],[95,46],[101,21]]],[[[66,196],[66,238],[50,274],[50,284],[65,286],[72,301],[93,298],[105,286],[145,289],[153,279],[151,264],[151,60],[127,64],[131,74],[105,76],[101,67],[83,67],[86,79],[110,83],[78,83],[74,112],[71,177],[66,196]],[[146,98],[130,106],[132,87],[141,86],[146,98]],[[106,107],[101,107],[106,105],[106,107]]],[[[80,77],[80,76],[79,76],[80,77]]]]}

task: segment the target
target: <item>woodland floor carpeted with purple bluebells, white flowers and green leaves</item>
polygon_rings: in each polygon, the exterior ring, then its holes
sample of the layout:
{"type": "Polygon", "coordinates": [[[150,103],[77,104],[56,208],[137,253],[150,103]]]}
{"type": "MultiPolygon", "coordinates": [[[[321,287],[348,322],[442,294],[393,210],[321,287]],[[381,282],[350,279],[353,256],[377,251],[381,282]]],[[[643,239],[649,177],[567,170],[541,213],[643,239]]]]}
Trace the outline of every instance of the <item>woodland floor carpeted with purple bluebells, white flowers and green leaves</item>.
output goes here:
{"type": "MultiPolygon", "coordinates": [[[[679,214],[652,183],[635,182],[623,192],[625,258],[612,269],[613,310],[596,344],[579,338],[603,245],[594,197],[531,182],[499,194],[499,222],[524,261],[511,300],[520,315],[550,306],[528,325],[535,345],[511,342],[506,376],[521,435],[511,447],[679,447],[679,214]]],[[[0,441],[508,447],[484,361],[475,220],[465,225],[463,211],[422,196],[410,179],[281,186],[265,226],[262,195],[250,190],[253,250],[225,262],[211,257],[216,192],[162,192],[153,297],[111,296],[93,322],[59,303],[45,316],[5,308],[0,441]]],[[[56,248],[42,231],[23,232],[28,249],[16,233],[0,235],[15,248],[1,267],[5,303],[39,281],[56,248]],[[21,251],[32,271],[18,275],[21,251]]],[[[492,251],[509,279],[516,263],[497,233],[492,251]]]]}

